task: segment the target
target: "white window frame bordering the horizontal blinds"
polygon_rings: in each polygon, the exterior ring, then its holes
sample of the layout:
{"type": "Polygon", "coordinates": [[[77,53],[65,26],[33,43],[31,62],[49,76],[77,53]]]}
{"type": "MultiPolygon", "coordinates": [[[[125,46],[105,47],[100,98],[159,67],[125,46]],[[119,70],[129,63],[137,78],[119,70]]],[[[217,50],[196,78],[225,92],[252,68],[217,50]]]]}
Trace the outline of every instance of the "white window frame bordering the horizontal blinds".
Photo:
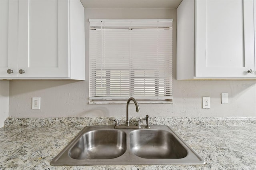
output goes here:
{"type": "MultiPolygon", "coordinates": [[[[158,19],[158,20],[89,20],[90,22],[90,30],[91,29],[96,29],[96,28],[101,28],[104,27],[106,28],[144,28],[145,27],[145,22],[148,23],[146,26],[149,29],[155,29],[156,28],[156,23],[157,23],[157,30],[166,28],[166,24],[168,25],[168,22],[171,22],[172,24],[172,19],[158,19]],[[103,24],[104,23],[104,26],[103,24]],[[132,26],[131,26],[132,25],[132,26]]],[[[169,24],[170,25],[170,24],[169,24]]],[[[168,25],[168,26],[169,26],[168,25]]],[[[144,28],[145,29],[145,28],[144,28]]],[[[124,104],[126,103],[127,99],[129,97],[134,97],[138,101],[138,103],[172,103],[172,26],[169,27],[171,30],[171,53],[170,53],[170,95],[166,96],[154,96],[154,99],[149,99],[152,96],[134,96],[131,95],[131,87],[129,86],[129,95],[125,97],[108,97],[108,96],[102,96],[102,97],[92,97],[91,96],[91,77],[89,78],[89,104],[124,104]]],[[[167,30],[167,29],[166,29],[167,30]]],[[[102,34],[102,33],[101,33],[102,34]]],[[[90,40],[91,41],[91,40],[90,40]]],[[[158,41],[158,40],[157,40],[158,41]]],[[[101,42],[102,43],[102,42],[101,42]]],[[[101,45],[102,46],[102,45],[101,45]]],[[[158,48],[158,47],[157,47],[158,48]]],[[[102,49],[101,49],[102,51],[102,49]]],[[[91,52],[91,48],[89,53],[91,52]]],[[[90,63],[89,63],[89,71],[90,71],[90,76],[91,76],[91,55],[90,55],[90,63]]],[[[154,69],[154,72],[157,70],[154,69]]],[[[155,73],[156,74],[156,73],[155,73]]],[[[110,83],[109,83],[110,84],[110,83]]],[[[157,88],[157,86],[156,86],[157,88]]],[[[96,89],[96,87],[95,87],[96,89]]]]}

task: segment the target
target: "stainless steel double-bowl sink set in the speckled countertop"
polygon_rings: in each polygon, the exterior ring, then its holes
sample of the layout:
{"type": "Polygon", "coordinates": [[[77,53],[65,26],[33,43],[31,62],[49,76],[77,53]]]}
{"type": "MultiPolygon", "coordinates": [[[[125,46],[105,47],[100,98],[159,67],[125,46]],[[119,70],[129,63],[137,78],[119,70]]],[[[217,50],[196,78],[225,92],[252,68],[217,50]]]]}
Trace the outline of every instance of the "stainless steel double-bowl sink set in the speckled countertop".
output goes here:
{"type": "Polygon", "coordinates": [[[168,126],[85,127],[51,162],[66,165],[205,164],[168,126]]]}

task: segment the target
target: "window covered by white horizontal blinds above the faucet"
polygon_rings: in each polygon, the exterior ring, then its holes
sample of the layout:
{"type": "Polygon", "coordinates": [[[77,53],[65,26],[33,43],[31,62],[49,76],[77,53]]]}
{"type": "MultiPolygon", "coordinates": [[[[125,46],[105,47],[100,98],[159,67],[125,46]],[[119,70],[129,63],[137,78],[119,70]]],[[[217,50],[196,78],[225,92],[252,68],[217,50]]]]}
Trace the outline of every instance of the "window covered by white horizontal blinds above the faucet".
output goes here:
{"type": "Polygon", "coordinates": [[[172,19],[90,20],[89,41],[89,103],[172,101],[172,19]]]}

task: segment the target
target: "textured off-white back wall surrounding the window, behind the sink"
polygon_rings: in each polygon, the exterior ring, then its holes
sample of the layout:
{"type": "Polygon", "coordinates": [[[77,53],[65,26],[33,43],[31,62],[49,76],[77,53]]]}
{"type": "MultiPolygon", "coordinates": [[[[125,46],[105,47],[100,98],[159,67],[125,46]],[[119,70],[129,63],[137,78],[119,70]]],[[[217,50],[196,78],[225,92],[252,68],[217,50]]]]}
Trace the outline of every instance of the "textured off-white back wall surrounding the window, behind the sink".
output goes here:
{"type": "Polygon", "coordinates": [[[10,81],[10,117],[124,117],[126,104],[88,104],[88,19],[173,18],[173,104],[130,105],[130,116],[252,117],[256,116],[256,81],[176,80],[176,10],[86,9],[85,81],[10,81]],[[220,103],[228,93],[229,104],[220,103]],[[202,109],[202,96],[210,96],[210,109],[202,109]],[[32,110],[32,97],[41,97],[41,109],[32,110]],[[132,109],[134,107],[134,109],[132,109]]]}

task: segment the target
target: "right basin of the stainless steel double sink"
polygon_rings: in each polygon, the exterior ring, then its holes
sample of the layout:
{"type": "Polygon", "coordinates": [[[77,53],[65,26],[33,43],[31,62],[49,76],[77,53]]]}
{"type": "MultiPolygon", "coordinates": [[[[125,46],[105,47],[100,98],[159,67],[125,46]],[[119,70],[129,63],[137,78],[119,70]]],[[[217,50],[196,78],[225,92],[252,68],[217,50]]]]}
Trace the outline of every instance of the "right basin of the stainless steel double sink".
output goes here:
{"type": "Polygon", "coordinates": [[[141,158],[179,159],[187,156],[184,146],[166,130],[134,130],[130,133],[132,153],[141,158]]]}

